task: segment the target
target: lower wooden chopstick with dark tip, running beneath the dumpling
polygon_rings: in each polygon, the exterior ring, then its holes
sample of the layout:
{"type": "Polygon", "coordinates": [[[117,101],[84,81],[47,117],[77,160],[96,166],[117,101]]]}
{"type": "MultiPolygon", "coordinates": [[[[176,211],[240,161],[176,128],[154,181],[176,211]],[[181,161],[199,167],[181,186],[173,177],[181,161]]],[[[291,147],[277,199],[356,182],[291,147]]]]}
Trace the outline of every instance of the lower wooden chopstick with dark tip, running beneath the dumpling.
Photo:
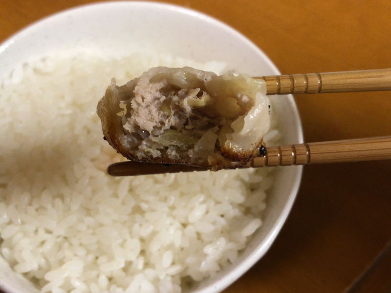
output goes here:
{"type": "MultiPolygon", "coordinates": [[[[304,143],[288,146],[267,146],[244,167],[292,166],[391,159],[391,136],[304,143]]],[[[111,176],[205,171],[208,167],[139,163],[126,161],[108,167],[111,176]]]]}

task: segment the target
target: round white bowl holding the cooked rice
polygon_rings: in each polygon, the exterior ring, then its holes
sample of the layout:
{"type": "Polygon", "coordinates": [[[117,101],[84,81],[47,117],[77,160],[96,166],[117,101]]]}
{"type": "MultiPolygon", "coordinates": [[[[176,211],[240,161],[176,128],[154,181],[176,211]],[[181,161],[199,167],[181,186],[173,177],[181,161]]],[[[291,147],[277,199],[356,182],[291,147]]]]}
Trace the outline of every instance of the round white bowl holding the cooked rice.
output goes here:
{"type": "MultiPolygon", "coordinates": [[[[79,49],[119,57],[139,52],[140,48],[200,63],[225,62],[226,69],[252,76],[279,74],[256,45],[220,21],[174,5],[124,1],[67,10],[12,36],[0,46],[0,81],[21,63],[56,52],[79,49]]],[[[302,126],[293,97],[280,96],[275,110],[281,117],[283,142],[302,143],[302,126]]],[[[277,170],[261,229],[236,263],[202,282],[194,293],[222,291],[265,254],[292,207],[301,174],[302,167],[277,170]]],[[[0,289],[9,293],[37,292],[2,259],[0,289]]]]}

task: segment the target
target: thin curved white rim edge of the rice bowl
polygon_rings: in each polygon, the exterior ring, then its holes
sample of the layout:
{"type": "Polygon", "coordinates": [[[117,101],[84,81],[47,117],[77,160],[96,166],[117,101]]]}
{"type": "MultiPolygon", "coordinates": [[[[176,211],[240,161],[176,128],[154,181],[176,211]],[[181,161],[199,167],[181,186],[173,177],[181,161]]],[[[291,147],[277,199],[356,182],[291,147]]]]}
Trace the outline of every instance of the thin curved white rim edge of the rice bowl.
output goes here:
{"type": "MultiPolygon", "coordinates": [[[[65,10],[53,13],[51,15],[45,16],[37,21],[32,22],[31,24],[28,24],[27,26],[24,26],[22,29],[17,31],[16,33],[12,34],[5,40],[3,40],[0,43],[0,54],[5,51],[10,45],[12,45],[15,42],[19,42],[23,37],[29,35],[34,30],[41,29],[44,25],[47,25],[50,21],[56,21],[58,17],[65,17],[67,15],[72,15],[74,13],[83,12],[85,10],[89,9],[99,9],[102,7],[105,7],[107,9],[114,8],[116,6],[121,5],[130,5],[130,6],[138,6],[138,7],[146,7],[146,8],[159,8],[159,9],[168,9],[173,10],[178,13],[186,14],[191,17],[198,18],[202,21],[207,21],[213,26],[218,26],[219,28],[223,29],[224,31],[228,32],[229,34],[233,35],[235,38],[237,38],[240,42],[243,42],[246,46],[251,47],[255,52],[257,52],[258,56],[263,59],[263,61],[269,66],[269,68],[276,74],[280,75],[280,71],[276,67],[276,65],[271,61],[271,59],[250,39],[248,39],[246,36],[244,36],[242,33],[240,33],[235,28],[231,27],[227,23],[218,20],[217,18],[214,18],[210,15],[207,15],[201,11],[198,11],[193,8],[187,8],[175,4],[170,3],[164,3],[164,2],[157,2],[157,1],[103,1],[103,2],[96,2],[96,3],[89,3],[89,4],[83,4],[78,5],[75,7],[67,8],[65,10]]],[[[294,101],[294,98],[292,95],[287,95],[289,103],[292,105],[292,111],[293,115],[297,121],[298,129],[297,129],[297,137],[298,137],[298,143],[304,142],[304,135],[303,135],[303,126],[302,121],[300,119],[299,111],[297,108],[297,105],[294,101]]],[[[297,166],[297,172],[295,174],[295,183],[293,185],[293,188],[290,191],[288,201],[285,203],[284,208],[282,209],[281,214],[278,217],[278,220],[273,225],[273,228],[270,230],[270,232],[265,236],[264,241],[262,241],[260,244],[256,245],[256,249],[253,253],[249,254],[244,260],[242,260],[235,269],[229,271],[228,273],[225,273],[222,278],[215,280],[212,284],[207,284],[206,286],[201,286],[200,289],[195,288],[192,290],[193,293],[211,293],[211,292],[221,292],[225,288],[227,288],[229,285],[231,285],[233,282],[235,282],[239,277],[241,277],[245,272],[247,272],[257,261],[260,260],[260,258],[268,251],[274,240],[276,239],[278,233],[282,229],[283,224],[285,223],[290,210],[292,209],[293,203],[296,199],[300,184],[301,184],[301,178],[303,173],[303,166],[297,166]]],[[[10,288],[4,287],[4,284],[0,284],[0,288],[2,290],[5,290],[7,292],[10,292],[10,288]]]]}

